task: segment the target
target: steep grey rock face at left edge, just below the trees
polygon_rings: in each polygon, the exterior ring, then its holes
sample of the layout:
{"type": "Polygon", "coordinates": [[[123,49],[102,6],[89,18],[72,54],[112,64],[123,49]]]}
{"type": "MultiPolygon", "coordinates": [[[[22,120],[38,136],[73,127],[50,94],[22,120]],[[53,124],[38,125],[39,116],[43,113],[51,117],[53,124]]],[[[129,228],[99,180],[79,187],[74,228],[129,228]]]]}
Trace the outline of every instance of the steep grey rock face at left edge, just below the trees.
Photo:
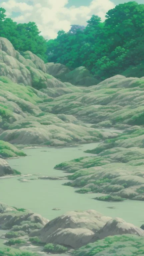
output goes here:
{"type": "MultiPolygon", "coordinates": [[[[30,51],[24,52],[22,56],[10,41],[3,37],[0,37],[0,76],[5,76],[14,83],[45,89],[47,94],[47,88],[61,87],[65,88],[65,92],[67,90],[64,83],[46,73],[43,60],[30,51]]],[[[54,96],[55,93],[51,91],[50,94],[54,96]]]]}

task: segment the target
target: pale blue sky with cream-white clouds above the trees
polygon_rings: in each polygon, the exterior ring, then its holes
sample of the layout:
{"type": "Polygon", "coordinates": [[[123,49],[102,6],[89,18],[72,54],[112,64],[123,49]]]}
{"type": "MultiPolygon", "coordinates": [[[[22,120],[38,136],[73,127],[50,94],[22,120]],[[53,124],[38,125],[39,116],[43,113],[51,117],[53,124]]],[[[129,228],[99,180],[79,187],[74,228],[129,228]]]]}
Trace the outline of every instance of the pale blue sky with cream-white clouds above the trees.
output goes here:
{"type": "MultiPolygon", "coordinates": [[[[144,4],[144,0],[135,1],[144,4]]],[[[93,14],[104,21],[108,10],[124,2],[129,0],[0,0],[0,7],[17,23],[34,21],[44,38],[54,39],[72,24],[86,26],[93,14]]]]}

